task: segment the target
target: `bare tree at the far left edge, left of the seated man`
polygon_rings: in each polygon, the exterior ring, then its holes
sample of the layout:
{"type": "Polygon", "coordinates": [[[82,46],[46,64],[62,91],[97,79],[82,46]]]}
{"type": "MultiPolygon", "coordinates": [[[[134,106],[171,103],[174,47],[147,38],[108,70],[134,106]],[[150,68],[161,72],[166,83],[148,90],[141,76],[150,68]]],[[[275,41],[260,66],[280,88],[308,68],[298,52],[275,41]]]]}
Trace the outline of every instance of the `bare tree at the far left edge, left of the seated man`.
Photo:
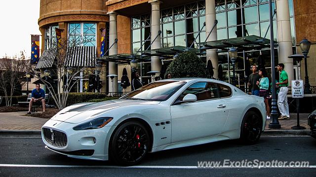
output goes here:
{"type": "Polygon", "coordinates": [[[25,58],[24,52],[20,56],[0,59],[0,90],[4,92],[7,107],[12,106],[12,95],[29,68],[30,59],[25,58]]]}

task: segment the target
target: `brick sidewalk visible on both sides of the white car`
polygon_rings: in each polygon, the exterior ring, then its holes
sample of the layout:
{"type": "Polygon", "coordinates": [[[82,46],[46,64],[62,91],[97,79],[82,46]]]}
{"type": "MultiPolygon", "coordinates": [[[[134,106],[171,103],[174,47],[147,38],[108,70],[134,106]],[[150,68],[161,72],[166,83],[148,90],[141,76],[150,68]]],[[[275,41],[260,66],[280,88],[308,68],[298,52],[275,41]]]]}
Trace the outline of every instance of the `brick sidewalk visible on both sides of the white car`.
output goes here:
{"type": "MultiPolygon", "coordinates": [[[[13,113],[0,113],[0,132],[8,131],[28,131],[28,130],[41,130],[41,126],[48,120],[46,118],[35,118],[25,116],[26,112],[13,112],[13,113]]],[[[266,128],[264,134],[297,134],[297,135],[307,135],[310,128],[307,124],[307,113],[300,114],[300,125],[304,126],[304,130],[292,130],[292,126],[297,125],[297,115],[296,113],[290,113],[290,119],[279,120],[281,128],[280,129],[270,129],[267,120],[266,128]]]]}

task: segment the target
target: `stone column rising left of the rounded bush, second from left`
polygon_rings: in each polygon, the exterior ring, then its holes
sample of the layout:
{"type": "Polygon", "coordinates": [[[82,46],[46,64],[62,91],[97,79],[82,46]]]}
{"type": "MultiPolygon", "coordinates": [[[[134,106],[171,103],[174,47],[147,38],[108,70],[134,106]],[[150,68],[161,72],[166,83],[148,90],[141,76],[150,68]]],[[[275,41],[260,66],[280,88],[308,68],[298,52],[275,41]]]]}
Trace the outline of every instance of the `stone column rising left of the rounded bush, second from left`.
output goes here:
{"type": "MultiPolygon", "coordinates": [[[[158,31],[160,30],[160,1],[159,0],[149,0],[149,3],[152,5],[152,36],[151,41],[155,39],[158,35],[158,31]]],[[[160,35],[156,38],[154,43],[151,46],[151,49],[159,49],[161,48],[161,37],[160,35]]],[[[161,69],[161,62],[159,57],[152,57],[151,61],[152,71],[160,71],[161,69]]]]}

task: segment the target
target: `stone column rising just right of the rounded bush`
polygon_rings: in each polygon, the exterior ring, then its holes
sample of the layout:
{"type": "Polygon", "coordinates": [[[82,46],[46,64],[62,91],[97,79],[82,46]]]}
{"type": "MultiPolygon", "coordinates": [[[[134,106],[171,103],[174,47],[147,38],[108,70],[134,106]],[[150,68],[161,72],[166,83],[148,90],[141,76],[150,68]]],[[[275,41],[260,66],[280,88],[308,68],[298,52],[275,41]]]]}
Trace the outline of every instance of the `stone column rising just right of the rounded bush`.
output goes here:
{"type": "MultiPolygon", "coordinates": [[[[215,11],[215,0],[205,0],[205,21],[206,21],[206,37],[214,26],[216,20],[216,11],[215,11]]],[[[217,29],[216,26],[212,30],[211,35],[208,37],[207,41],[216,41],[217,40],[217,29]]],[[[204,42],[204,41],[201,41],[204,42]]],[[[217,49],[206,50],[206,63],[210,58],[214,67],[214,78],[218,78],[218,58],[217,58],[217,49]]]]}

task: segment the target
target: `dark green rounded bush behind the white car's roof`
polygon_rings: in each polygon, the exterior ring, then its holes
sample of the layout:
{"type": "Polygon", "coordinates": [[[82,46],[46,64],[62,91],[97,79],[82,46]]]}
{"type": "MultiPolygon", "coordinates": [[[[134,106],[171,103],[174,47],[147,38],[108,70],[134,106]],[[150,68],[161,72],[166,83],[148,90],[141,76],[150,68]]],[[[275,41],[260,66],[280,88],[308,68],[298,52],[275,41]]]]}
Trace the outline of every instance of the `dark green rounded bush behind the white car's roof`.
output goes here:
{"type": "Polygon", "coordinates": [[[199,77],[206,78],[206,65],[193,52],[183,52],[168,66],[165,74],[172,78],[199,77]]]}

